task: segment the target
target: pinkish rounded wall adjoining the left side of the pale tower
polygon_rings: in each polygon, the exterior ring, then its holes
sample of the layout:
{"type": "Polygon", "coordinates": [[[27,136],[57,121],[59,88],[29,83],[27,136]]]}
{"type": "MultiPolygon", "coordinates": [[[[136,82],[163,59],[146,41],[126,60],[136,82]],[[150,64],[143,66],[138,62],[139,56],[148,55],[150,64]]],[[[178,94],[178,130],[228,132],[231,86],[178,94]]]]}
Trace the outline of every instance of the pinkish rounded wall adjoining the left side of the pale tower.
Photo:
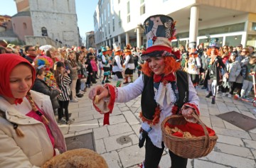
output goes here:
{"type": "Polygon", "coordinates": [[[13,30],[20,40],[25,41],[25,35],[33,35],[33,28],[30,16],[16,16],[11,18],[13,30]],[[26,24],[26,26],[24,26],[26,24]]]}

